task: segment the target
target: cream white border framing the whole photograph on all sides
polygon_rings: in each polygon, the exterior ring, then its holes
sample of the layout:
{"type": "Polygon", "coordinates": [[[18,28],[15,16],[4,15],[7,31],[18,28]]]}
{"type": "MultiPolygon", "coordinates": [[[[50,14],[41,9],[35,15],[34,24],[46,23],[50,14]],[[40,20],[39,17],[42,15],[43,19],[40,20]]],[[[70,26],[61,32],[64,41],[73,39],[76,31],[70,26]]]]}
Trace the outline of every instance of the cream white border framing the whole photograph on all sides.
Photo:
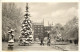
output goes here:
{"type": "MultiPolygon", "coordinates": [[[[80,17],[80,1],[79,0],[1,0],[1,2],[78,2],[79,3],[79,10],[78,10],[78,16],[80,17]]],[[[1,34],[1,38],[0,38],[0,51],[2,51],[2,4],[0,2],[0,34],[1,34]]],[[[80,22],[80,19],[79,19],[80,22]]],[[[80,26],[80,23],[79,23],[80,26]]],[[[79,28],[80,29],[80,28],[79,28]]],[[[80,31],[79,31],[80,32],[80,31]]],[[[79,35],[80,37],[80,35],[79,35]]],[[[80,40],[80,38],[79,38],[80,40]]],[[[80,44],[80,42],[79,42],[80,44]]],[[[80,47],[80,45],[79,45],[80,47]]],[[[80,51],[80,49],[79,49],[80,51]]],[[[2,51],[2,52],[65,52],[65,51],[2,51]]],[[[78,51],[68,51],[68,52],[78,52],[78,51]]]]}

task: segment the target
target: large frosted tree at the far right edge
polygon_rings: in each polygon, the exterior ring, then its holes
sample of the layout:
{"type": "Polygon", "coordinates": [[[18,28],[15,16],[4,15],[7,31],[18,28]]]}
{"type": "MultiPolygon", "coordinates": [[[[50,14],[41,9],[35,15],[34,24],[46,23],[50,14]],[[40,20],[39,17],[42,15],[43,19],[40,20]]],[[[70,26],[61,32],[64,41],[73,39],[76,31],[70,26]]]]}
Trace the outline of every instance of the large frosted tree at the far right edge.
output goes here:
{"type": "Polygon", "coordinates": [[[74,17],[64,26],[64,39],[75,40],[78,39],[78,18],[74,17]]]}

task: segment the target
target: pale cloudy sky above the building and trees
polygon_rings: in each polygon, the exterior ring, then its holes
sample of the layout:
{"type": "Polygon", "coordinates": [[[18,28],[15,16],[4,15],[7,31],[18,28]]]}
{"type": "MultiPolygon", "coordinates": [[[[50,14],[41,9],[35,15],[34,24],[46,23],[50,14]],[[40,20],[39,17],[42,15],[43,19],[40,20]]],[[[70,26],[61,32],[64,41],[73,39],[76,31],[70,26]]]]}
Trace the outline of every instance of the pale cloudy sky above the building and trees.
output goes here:
{"type": "MultiPolygon", "coordinates": [[[[26,3],[16,3],[25,14],[26,3]]],[[[28,3],[30,19],[33,22],[41,23],[44,19],[44,25],[48,22],[53,25],[60,23],[65,25],[66,22],[78,16],[78,3],[76,2],[32,2],[28,3]]]]}

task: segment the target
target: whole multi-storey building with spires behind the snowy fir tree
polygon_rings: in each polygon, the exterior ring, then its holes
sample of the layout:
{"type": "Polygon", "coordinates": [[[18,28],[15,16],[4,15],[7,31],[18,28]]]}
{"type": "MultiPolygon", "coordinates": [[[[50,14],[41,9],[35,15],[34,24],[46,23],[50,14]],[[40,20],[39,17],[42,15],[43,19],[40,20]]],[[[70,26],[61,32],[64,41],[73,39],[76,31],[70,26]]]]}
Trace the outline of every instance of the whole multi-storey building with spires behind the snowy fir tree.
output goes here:
{"type": "Polygon", "coordinates": [[[40,37],[47,37],[47,31],[51,31],[51,25],[48,23],[48,26],[44,26],[44,20],[42,23],[33,23],[33,34],[34,40],[40,37]]]}

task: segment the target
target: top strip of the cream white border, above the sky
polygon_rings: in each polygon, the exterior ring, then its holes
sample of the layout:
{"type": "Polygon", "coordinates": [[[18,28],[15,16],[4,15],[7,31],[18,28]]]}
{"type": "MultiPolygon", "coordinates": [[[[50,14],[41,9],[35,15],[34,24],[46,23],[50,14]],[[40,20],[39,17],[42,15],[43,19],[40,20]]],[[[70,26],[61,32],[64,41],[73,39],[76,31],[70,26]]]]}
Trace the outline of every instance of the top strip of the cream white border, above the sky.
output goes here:
{"type": "Polygon", "coordinates": [[[79,0],[1,0],[2,2],[78,2],[79,0]]]}

